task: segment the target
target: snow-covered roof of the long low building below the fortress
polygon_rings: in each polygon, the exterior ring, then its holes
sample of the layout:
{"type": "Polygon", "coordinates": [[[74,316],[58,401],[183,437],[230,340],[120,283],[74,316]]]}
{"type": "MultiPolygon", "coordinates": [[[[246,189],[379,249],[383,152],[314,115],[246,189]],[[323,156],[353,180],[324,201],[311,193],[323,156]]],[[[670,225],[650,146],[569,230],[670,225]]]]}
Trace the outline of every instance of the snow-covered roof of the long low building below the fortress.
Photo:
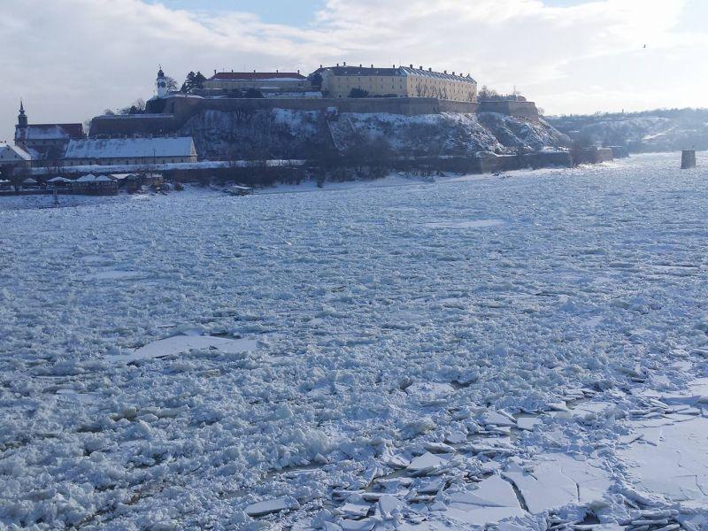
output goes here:
{"type": "Polygon", "coordinates": [[[191,136],[155,138],[87,138],[73,140],[65,158],[152,158],[196,155],[191,136]]]}

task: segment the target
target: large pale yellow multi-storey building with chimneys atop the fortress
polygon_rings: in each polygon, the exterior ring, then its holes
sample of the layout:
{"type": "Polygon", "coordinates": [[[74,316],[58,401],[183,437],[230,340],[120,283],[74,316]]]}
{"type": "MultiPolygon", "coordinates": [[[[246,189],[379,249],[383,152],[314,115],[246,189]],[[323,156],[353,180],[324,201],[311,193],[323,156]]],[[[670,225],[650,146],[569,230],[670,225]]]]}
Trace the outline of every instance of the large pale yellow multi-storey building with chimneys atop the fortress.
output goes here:
{"type": "Polygon", "coordinates": [[[435,97],[458,102],[477,101],[477,81],[463,73],[435,72],[422,66],[393,65],[391,68],[359,66],[320,67],[313,74],[322,77],[327,97],[358,96],[435,97]]]}

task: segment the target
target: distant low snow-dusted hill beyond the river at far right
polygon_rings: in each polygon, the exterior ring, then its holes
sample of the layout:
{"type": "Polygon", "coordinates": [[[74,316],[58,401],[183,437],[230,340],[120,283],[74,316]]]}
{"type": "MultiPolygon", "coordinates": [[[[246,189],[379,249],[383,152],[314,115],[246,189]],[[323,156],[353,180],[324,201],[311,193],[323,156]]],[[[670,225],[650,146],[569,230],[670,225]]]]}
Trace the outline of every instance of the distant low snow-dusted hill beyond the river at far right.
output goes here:
{"type": "Polygon", "coordinates": [[[581,144],[627,146],[630,151],[708,150],[708,109],[546,117],[581,144]]]}

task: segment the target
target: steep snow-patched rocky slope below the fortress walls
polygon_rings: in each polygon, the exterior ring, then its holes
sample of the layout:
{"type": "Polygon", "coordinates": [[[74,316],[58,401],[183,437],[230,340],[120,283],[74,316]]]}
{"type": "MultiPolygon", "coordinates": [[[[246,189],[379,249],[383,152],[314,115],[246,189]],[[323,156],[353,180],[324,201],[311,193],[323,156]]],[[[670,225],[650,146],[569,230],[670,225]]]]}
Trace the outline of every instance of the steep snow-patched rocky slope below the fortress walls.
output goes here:
{"type": "Polygon", "coordinates": [[[323,146],[346,150],[361,142],[386,142],[394,153],[473,155],[504,153],[519,147],[540,150],[567,143],[548,124],[485,113],[442,113],[406,117],[388,113],[204,111],[190,119],[181,135],[194,136],[207,158],[308,158],[323,146]]]}

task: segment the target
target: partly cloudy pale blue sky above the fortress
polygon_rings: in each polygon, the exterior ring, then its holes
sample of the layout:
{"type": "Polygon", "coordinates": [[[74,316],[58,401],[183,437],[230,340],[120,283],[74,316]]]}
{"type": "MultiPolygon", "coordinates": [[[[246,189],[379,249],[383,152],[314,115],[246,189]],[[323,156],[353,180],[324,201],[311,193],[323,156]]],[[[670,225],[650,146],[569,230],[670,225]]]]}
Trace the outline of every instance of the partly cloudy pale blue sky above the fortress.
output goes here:
{"type": "Polygon", "coordinates": [[[708,107],[708,0],[0,0],[0,141],[154,95],[158,65],[424,65],[548,114],[708,107]],[[646,48],[645,48],[646,46],[646,48]]]}

